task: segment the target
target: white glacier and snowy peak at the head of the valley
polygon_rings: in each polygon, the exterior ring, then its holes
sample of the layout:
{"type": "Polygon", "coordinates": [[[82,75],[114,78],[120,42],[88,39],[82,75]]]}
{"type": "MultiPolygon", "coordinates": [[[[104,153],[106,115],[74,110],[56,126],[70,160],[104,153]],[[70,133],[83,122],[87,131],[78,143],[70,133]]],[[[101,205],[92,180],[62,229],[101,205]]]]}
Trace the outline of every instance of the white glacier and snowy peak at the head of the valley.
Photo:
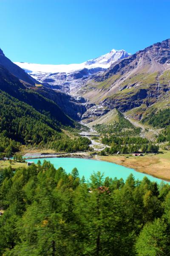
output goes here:
{"type": "Polygon", "coordinates": [[[85,61],[80,64],[50,65],[14,62],[23,68],[26,73],[41,83],[48,83],[51,88],[59,89],[67,93],[75,91],[77,86],[83,84],[83,79],[88,76],[108,69],[111,64],[127,58],[130,54],[125,50],[112,49],[105,55],[85,61]]]}

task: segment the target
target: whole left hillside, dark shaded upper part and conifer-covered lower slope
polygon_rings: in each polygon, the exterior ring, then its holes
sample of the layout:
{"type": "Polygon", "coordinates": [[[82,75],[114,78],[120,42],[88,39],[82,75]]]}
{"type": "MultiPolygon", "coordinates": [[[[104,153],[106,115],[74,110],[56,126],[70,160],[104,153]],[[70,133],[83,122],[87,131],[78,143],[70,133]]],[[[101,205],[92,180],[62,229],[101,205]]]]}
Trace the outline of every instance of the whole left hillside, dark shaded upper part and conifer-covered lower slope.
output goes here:
{"type": "MultiPolygon", "coordinates": [[[[75,128],[76,123],[56,103],[20,81],[0,67],[0,155],[10,157],[20,144],[47,146],[56,151],[89,149],[87,138],[68,137],[62,129],[75,128]],[[62,129],[61,129],[62,128],[62,129]]],[[[77,124],[78,125],[78,124],[77,124]]]]}

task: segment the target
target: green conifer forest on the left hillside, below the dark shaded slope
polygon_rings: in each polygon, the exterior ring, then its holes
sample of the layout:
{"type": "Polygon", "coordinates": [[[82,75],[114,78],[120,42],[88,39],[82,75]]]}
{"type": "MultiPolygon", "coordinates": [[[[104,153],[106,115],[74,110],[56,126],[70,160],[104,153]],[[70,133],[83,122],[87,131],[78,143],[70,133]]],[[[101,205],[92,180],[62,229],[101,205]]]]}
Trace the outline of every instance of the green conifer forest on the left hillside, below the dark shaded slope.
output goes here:
{"type": "Polygon", "coordinates": [[[0,90],[0,152],[10,157],[20,143],[71,152],[88,150],[91,142],[82,137],[70,139],[62,134],[59,122],[46,112],[40,113],[0,90]]]}

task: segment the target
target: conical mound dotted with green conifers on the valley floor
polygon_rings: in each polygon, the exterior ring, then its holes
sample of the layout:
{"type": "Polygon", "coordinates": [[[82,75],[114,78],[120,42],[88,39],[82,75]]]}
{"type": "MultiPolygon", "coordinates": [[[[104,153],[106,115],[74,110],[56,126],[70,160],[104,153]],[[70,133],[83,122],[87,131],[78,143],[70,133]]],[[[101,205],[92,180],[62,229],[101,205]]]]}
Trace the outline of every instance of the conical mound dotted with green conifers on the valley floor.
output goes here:
{"type": "MultiPolygon", "coordinates": [[[[117,119],[109,124],[96,124],[94,128],[103,135],[102,143],[108,145],[105,151],[109,154],[158,152],[159,146],[152,144],[148,139],[141,137],[141,128],[135,127],[117,109],[117,119]]],[[[105,154],[102,151],[102,154],[105,154]]]]}

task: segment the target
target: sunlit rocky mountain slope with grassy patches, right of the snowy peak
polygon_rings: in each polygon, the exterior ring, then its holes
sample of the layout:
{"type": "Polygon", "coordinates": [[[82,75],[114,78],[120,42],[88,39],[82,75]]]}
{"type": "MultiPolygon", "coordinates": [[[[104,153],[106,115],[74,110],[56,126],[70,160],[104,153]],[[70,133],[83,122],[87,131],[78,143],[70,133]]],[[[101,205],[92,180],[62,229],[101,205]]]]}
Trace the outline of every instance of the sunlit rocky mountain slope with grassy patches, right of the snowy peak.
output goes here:
{"type": "Polygon", "coordinates": [[[92,103],[125,112],[170,99],[170,39],[153,44],[105,72],[86,79],[77,91],[92,103]]]}

